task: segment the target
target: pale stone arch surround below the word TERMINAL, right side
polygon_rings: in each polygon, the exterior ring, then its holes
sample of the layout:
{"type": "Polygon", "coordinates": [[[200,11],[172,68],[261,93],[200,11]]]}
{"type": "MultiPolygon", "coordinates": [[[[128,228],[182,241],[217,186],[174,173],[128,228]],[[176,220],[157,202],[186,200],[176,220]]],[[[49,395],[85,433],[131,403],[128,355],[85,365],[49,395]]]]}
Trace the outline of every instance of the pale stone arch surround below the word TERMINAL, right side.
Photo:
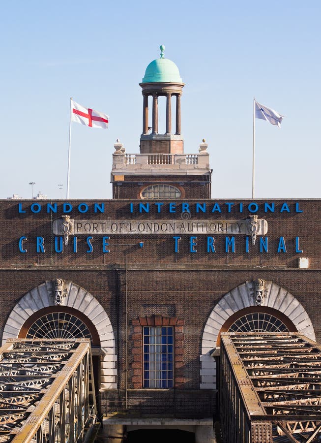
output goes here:
{"type": "MultiPolygon", "coordinates": [[[[312,322],[301,303],[283,287],[270,281],[264,283],[267,292],[262,308],[269,307],[284,314],[298,332],[315,340],[312,322]]],[[[216,389],[216,362],[211,354],[223,324],[229,317],[250,306],[255,306],[253,283],[245,282],[225,294],[210,313],[202,337],[201,389],[216,389]]]]}

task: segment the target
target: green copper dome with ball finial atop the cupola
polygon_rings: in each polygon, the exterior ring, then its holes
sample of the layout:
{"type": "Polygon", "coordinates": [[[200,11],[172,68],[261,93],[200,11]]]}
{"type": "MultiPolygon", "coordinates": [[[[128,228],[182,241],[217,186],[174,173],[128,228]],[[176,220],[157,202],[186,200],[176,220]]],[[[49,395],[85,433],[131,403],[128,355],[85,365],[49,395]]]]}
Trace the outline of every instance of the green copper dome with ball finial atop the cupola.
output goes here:
{"type": "Polygon", "coordinates": [[[161,45],[159,49],[161,50],[160,58],[148,64],[142,83],[182,83],[178,67],[172,60],[164,57],[165,46],[161,45]]]}

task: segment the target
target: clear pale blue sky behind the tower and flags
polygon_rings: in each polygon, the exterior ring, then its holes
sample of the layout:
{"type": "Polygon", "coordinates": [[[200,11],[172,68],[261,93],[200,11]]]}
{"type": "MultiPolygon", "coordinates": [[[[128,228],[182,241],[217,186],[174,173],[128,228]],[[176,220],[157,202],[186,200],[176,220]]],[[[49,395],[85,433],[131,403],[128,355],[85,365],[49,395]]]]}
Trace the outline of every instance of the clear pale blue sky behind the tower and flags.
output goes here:
{"type": "Polygon", "coordinates": [[[284,115],[256,120],[256,198],[319,198],[320,1],[2,2],[0,198],[66,190],[70,96],[110,116],[72,125],[70,198],[111,198],[117,138],[139,153],[148,63],[186,84],[185,153],[205,138],[213,198],[249,198],[253,97],[284,115]]]}

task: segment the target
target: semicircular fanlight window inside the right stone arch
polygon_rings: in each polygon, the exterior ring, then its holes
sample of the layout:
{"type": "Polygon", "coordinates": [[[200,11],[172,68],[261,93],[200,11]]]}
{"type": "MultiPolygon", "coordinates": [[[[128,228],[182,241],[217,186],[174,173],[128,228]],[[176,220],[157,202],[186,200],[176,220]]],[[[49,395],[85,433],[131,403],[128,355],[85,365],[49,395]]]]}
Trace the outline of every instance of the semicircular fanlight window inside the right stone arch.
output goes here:
{"type": "Polygon", "coordinates": [[[263,312],[254,312],[238,318],[229,332],[288,332],[288,327],[279,318],[263,312]]]}

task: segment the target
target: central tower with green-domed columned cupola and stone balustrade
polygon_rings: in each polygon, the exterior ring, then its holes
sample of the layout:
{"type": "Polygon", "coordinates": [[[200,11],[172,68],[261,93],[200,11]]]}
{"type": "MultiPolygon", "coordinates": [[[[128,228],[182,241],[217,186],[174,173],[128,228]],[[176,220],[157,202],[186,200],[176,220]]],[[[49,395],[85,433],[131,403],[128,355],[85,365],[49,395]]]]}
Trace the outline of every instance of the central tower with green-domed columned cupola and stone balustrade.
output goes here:
{"type": "Polygon", "coordinates": [[[180,124],[180,97],[184,83],[175,63],[164,57],[165,46],[161,45],[160,50],[160,58],[148,64],[140,83],[143,94],[140,154],[127,154],[119,140],[114,145],[113,198],[210,198],[211,170],[207,144],[203,140],[197,154],[184,154],[180,124]],[[152,126],[148,127],[150,96],[152,126]],[[164,134],[159,134],[158,100],[161,96],[166,97],[164,134]],[[174,119],[172,101],[175,103],[174,119]]]}

